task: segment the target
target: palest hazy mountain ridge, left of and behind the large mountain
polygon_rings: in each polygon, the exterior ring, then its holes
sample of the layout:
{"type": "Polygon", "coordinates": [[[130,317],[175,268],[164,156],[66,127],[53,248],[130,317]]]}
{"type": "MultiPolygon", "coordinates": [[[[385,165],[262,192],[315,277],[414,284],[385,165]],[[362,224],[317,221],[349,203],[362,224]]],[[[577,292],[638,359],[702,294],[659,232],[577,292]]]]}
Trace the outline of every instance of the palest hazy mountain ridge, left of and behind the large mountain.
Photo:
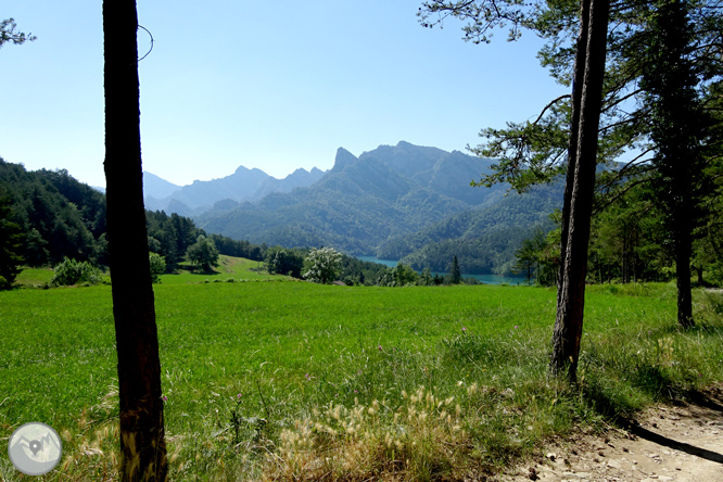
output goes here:
{"type": "Polygon", "coordinates": [[[300,168],[283,179],[277,179],[258,168],[239,166],[233,174],[219,179],[177,186],[144,172],[143,196],[147,210],[190,216],[213,210],[219,202],[232,207],[239,202],[258,201],[271,192],[290,192],[310,186],[322,176],[324,172],[314,167],[310,172],[300,168]]]}

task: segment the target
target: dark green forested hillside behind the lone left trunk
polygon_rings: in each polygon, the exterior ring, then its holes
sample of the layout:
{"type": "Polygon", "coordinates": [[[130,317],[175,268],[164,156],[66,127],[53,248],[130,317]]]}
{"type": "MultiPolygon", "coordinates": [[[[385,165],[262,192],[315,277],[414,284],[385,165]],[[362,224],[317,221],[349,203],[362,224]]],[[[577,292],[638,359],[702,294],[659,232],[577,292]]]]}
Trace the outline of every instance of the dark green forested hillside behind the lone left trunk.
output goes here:
{"type": "MultiPolygon", "coordinates": [[[[66,170],[28,172],[0,158],[0,198],[9,205],[10,223],[24,239],[20,255],[28,266],[54,265],[64,257],[107,264],[105,195],[77,181],[66,170]]],[[[165,257],[173,269],[190,245],[206,236],[178,214],[145,212],[149,251],[165,257]]],[[[263,259],[263,248],[212,234],[221,254],[263,259]]]]}

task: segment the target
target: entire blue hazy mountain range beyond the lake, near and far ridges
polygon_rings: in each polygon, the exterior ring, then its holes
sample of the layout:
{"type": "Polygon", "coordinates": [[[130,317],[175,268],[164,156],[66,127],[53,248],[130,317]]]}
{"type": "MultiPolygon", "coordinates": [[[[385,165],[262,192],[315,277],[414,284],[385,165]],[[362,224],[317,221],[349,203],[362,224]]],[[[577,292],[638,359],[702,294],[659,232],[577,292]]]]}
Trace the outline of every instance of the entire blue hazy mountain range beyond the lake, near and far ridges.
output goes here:
{"type": "Polygon", "coordinates": [[[562,200],[561,185],[527,194],[470,187],[493,162],[402,141],[358,157],[340,148],[330,170],[284,179],[239,167],[177,187],[145,173],[144,192],[149,210],[192,215],[207,232],[253,243],[330,245],[436,270],[457,251],[467,272],[491,272],[510,266],[535,227],[551,227],[548,215],[562,200]]]}

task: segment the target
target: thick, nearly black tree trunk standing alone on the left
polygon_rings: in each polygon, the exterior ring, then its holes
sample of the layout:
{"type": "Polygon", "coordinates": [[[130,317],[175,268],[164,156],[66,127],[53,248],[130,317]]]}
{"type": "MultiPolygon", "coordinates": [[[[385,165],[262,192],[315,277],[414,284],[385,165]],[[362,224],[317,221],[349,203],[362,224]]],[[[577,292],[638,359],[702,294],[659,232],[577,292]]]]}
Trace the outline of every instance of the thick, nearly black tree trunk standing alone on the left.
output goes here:
{"type": "Polygon", "coordinates": [[[107,239],[118,353],[120,480],[165,481],[161,365],[145,233],[135,0],[103,1],[107,239]]]}

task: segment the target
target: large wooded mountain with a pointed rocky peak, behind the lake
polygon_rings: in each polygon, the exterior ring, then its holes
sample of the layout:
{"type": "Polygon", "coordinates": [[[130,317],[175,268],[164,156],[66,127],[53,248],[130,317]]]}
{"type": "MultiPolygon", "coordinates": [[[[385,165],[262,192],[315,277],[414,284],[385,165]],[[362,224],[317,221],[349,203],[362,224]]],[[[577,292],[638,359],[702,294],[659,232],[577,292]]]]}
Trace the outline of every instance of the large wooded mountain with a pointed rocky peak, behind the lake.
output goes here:
{"type": "Polygon", "coordinates": [[[210,232],[255,243],[332,245],[379,257],[395,253],[393,258],[434,266],[442,261],[422,255],[427,244],[445,246],[436,250],[439,257],[460,243],[468,251],[472,244],[479,248],[478,241],[486,237],[505,255],[490,255],[489,262],[478,264],[474,269],[484,272],[509,264],[521,238],[533,225],[549,224],[547,215],[562,199],[561,185],[525,195],[505,195],[509,188],[505,185],[470,187],[472,179],[490,173],[492,163],[405,141],[358,157],[340,148],[333,168],[315,183],[272,192],[255,203],[218,203],[195,220],[210,232]],[[456,225],[466,228],[453,229],[456,225]],[[498,242],[500,236],[509,236],[510,242],[498,242]]]}

